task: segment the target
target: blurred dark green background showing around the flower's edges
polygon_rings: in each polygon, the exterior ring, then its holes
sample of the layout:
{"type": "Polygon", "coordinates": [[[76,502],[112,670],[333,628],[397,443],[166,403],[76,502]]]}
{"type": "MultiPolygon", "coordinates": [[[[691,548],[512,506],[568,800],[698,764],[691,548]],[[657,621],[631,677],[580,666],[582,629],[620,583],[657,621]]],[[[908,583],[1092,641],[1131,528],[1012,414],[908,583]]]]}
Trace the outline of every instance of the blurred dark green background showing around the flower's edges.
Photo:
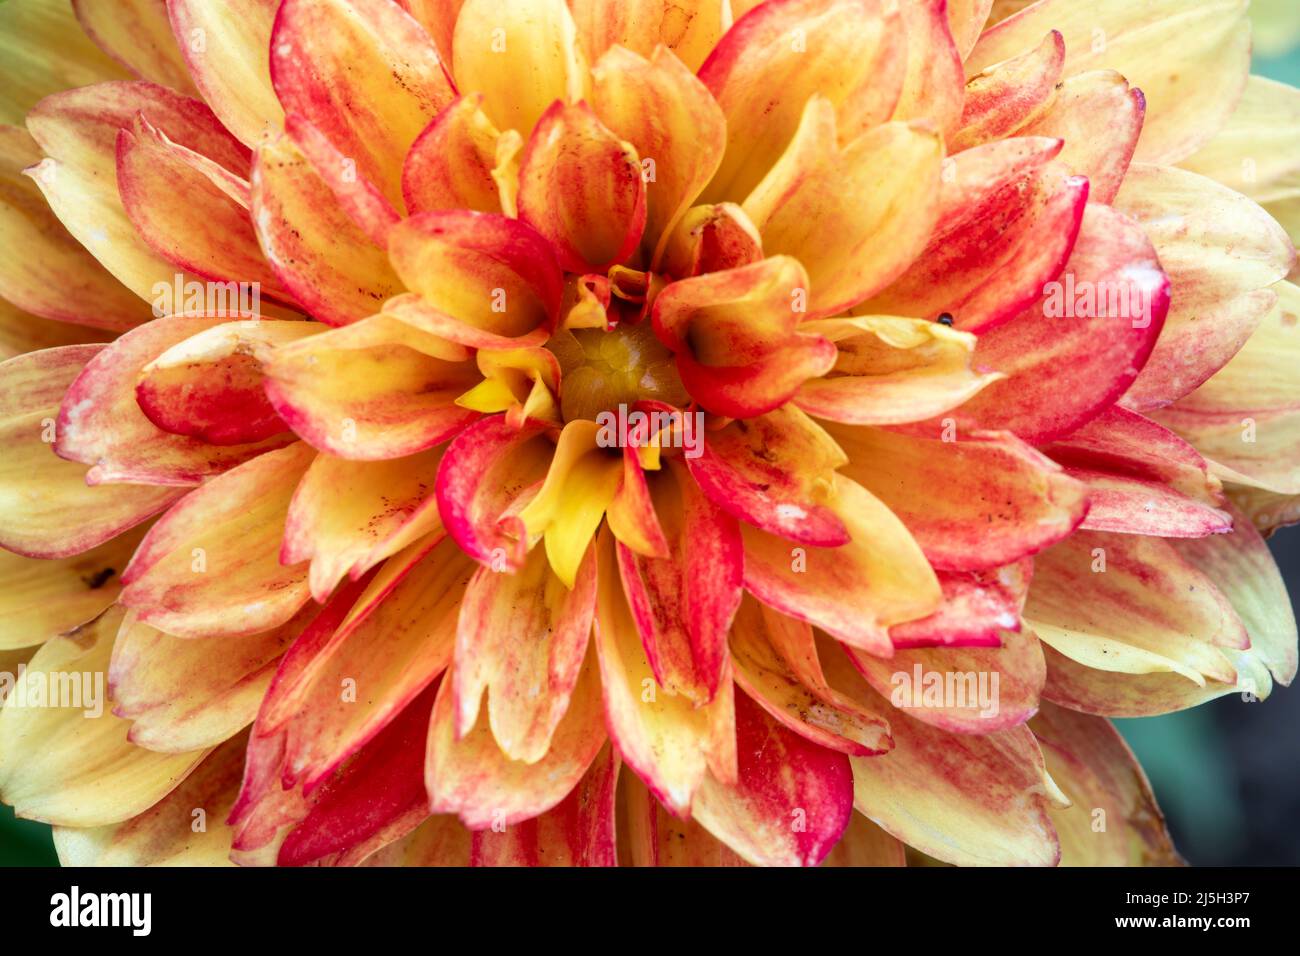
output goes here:
{"type": "MultiPolygon", "coordinates": [[[[1256,40],[1254,72],[1300,86],[1300,0],[1256,0],[1277,17],[1256,40]],[[1288,51],[1287,47],[1291,47],[1288,51]],[[1270,53],[1265,56],[1264,53],[1270,53]]],[[[1300,596],[1300,528],[1274,553],[1300,596]]],[[[1238,696],[1115,722],[1150,777],[1179,851],[1193,865],[1300,865],[1300,685],[1262,702],[1238,696]]],[[[0,866],[57,865],[49,827],[0,805],[0,866]]]]}

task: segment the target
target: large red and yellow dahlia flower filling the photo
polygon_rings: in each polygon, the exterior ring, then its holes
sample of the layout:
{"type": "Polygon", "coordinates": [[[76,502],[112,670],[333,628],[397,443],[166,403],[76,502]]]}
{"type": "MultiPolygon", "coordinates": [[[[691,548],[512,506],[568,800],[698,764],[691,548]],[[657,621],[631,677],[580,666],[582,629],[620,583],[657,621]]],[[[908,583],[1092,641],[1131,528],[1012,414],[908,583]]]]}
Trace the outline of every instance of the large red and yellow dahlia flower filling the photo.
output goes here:
{"type": "Polygon", "coordinates": [[[65,862],[1178,862],[1108,718],[1295,675],[1245,0],[0,48],[0,799],[65,862]]]}

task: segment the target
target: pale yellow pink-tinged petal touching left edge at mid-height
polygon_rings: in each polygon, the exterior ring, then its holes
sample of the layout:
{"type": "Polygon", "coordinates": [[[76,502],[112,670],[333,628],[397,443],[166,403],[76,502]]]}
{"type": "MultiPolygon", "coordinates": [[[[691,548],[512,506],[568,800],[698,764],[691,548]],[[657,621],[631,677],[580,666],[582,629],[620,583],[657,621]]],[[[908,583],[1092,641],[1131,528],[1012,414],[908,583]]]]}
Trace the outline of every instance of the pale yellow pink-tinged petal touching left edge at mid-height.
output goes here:
{"type": "MultiPolygon", "coordinates": [[[[173,488],[87,485],[57,458],[58,401],[103,346],[70,345],[0,363],[0,546],[31,558],[88,551],[166,507],[173,488]]],[[[79,620],[75,623],[81,623],[79,620]]]]}

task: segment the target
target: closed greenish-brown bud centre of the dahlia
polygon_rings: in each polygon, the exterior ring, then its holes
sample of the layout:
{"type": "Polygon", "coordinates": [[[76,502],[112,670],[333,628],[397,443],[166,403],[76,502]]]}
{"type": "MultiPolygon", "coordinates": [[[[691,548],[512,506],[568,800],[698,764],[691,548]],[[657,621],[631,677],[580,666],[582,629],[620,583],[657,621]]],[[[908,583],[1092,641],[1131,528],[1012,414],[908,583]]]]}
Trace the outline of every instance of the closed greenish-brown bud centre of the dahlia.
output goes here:
{"type": "Polygon", "coordinates": [[[685,406],[690,395],[677,377],[672,352],[663,347],[650,320],[621,321],[614,329],[571,329],[546,343],[560,363],[564,382],[560,414],[566,421],[594,420],[642,399],[685,406]]]}

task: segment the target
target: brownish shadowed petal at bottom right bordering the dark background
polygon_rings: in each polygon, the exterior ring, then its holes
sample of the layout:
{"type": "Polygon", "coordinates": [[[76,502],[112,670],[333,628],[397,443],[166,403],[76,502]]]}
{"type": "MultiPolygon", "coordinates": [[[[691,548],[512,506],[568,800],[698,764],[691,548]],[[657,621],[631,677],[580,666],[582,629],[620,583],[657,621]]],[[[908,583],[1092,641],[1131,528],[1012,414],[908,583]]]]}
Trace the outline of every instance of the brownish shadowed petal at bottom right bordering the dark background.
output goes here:
{"type": "Polygon", "coordinates": [[[1044,704],[1030,730],[1074,804],[1052,810],[1062,866],[1182,864],[1147,775],[1109,721],[1044,704]]]}

